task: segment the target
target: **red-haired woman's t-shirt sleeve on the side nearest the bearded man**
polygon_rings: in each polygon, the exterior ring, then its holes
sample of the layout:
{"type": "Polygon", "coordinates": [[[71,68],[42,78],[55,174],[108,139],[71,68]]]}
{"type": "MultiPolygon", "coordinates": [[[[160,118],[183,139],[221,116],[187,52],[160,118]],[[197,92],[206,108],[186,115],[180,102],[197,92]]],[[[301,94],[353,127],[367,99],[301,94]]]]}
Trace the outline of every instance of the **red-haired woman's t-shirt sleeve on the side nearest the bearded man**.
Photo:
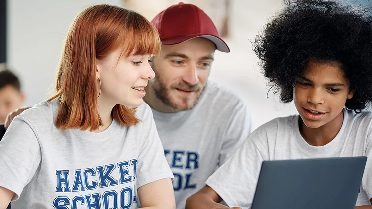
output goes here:
{"type": "Polygon", "coordinates": [[[136,180],[137,187],[164,179],[174,178],[168,162],[164,156],[163,145],[160,141],[155,121],[149,106],[146,105],[144,118],[140,154],[137,162],[136,180]]]}

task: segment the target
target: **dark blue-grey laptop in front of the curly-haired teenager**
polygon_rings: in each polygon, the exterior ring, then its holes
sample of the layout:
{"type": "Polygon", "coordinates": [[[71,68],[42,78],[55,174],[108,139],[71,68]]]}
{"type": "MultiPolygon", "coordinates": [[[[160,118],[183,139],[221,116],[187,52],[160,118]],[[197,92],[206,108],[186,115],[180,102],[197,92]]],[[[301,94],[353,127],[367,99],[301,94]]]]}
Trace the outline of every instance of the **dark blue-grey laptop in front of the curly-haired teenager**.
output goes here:
{"type": "Polygon", "coordinates": [[[367,157],[262,162],[252,209],[354,209],[367,157]]]}

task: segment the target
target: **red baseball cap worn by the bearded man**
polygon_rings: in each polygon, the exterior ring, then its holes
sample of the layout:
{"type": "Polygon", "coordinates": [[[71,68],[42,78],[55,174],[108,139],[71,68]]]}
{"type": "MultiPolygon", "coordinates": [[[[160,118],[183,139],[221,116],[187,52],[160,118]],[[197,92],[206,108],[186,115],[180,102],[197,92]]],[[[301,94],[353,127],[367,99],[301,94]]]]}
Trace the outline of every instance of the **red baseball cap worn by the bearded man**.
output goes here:
{"type": "Polygon", "coordinates": [[[160,12],[151,21],[159,32],[162,44],[173,45],[203,37],[212,41],[217,50],[230,52],[227,44],[218,36],[216,26],[199,7],[179,3],[160,12]]]}

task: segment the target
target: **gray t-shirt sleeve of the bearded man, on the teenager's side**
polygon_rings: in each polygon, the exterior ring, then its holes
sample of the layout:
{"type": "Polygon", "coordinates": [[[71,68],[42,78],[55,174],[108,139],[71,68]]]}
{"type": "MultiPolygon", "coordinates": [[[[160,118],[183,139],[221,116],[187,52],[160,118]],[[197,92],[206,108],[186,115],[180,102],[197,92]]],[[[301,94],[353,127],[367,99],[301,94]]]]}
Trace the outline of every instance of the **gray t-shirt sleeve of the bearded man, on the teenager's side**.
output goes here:
{"type": "Polygon", "coordinates": [[[219,166],[226,162],[252,131],[252,119],[248,105],[240,102],[234,109],[223,140],[219,166]]]}

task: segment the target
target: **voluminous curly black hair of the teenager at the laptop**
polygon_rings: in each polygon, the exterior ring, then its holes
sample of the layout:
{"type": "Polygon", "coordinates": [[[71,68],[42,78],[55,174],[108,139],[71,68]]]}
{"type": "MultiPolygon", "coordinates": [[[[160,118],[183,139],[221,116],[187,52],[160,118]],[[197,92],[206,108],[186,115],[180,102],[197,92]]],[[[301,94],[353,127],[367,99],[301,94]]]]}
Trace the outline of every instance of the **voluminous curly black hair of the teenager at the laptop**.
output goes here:
{"type": "Polygon", "coordinates": [[[289,103],[309,61],[338,62],[354,91],[345,106],[361,112],[372,101],[371,16],[370,8],[334,1],[285,0],[253,43],[269,91],[289,103]]]}

